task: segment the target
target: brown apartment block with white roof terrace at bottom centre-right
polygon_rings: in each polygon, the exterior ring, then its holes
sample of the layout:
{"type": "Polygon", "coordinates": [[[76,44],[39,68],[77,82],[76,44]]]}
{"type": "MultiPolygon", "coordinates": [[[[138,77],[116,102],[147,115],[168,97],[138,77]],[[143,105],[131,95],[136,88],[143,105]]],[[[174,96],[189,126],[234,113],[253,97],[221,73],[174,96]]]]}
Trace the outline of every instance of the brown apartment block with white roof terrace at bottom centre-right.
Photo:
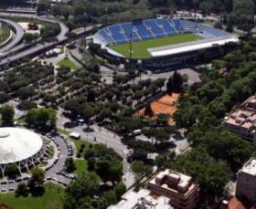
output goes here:
{"type": "Polygon", "coordinates": [[[163,195],[170,199],[175,209],[196,208],[199,187],[192,178],[180,172],[166,169],[159,172],[147,183],[147,189],[155,195],[163,195]]]}

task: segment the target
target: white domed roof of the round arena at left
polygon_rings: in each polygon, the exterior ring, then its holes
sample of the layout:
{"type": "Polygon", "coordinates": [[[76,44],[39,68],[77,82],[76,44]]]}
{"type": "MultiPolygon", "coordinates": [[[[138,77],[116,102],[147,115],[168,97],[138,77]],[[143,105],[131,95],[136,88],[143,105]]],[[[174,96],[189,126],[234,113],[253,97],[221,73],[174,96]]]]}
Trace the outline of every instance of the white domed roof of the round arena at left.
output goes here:
{"type": "Polygon", "coordinates": [[[43,141],[33,132],[21,128],[0,128],[0,164],[21,162],[41,150],[43,141]]]}

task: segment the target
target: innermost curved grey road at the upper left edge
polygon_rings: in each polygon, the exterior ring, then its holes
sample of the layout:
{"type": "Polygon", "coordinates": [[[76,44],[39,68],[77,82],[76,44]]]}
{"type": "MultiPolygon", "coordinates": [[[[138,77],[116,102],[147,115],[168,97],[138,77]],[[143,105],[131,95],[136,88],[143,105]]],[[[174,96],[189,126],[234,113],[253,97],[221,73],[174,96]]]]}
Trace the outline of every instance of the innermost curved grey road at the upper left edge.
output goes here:
{"type": "Polygon", "coordinates": [[[5,47],[0,48],[0,53],[2,54],[3,52],[6,52],[7,50],[11,49],[12,47],[15,47],[23,38],[24,36],[24,31],[22,26],[19,26],[16,22],[9,20],[9,19],[4,19],[0,18],[0,22],[5,23],[8,26],[12,26],[15,29],[15,38],[11,40],[9,43],[5,45],[5,47]]]}

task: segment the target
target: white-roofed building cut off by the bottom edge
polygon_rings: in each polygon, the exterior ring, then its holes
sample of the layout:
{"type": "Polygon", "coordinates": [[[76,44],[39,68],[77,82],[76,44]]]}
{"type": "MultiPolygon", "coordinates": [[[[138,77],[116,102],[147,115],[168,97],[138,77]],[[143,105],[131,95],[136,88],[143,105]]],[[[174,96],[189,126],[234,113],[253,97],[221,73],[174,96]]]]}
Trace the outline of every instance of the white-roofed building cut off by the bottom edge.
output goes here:
{"type": "Polygon", "coordinates": [[[165,196],[152,196],[151,192],[141,189],[137,193],[129,191],[124,193],[122,200],[108,209],[174,209],[170,204],[170,199],[165,196]]]}

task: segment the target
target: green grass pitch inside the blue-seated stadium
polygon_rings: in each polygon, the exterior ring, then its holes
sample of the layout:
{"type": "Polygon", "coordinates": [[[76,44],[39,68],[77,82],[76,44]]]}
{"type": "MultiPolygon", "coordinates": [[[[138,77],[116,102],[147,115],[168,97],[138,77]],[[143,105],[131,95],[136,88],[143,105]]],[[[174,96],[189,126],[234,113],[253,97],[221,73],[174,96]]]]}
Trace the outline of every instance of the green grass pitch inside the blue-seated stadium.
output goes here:
{"type": "MultiPolygon", "coordinates": [[[[171,37],[159,37],[144,41],[137,41],[133,42],[133,58],[147,58],[151,57],[150,53],[147,51],[147,48],[151,47],[164,47],[167,45],[175,45],[180,44],[188,41],[195,41],[201,39],[201,37],[198,37],[195,34],[182,34],[177,36],[171,36],[171,37]]],[[[125,57],[129,57],[129,49],[130,49],[130,43],[121,44],[121,45],[112,45],[111,48],[120,54],[122,54],[125,57]]]]}

